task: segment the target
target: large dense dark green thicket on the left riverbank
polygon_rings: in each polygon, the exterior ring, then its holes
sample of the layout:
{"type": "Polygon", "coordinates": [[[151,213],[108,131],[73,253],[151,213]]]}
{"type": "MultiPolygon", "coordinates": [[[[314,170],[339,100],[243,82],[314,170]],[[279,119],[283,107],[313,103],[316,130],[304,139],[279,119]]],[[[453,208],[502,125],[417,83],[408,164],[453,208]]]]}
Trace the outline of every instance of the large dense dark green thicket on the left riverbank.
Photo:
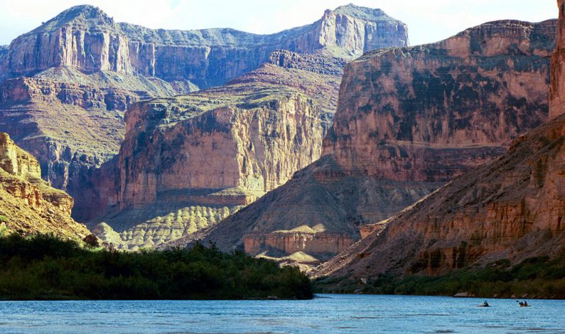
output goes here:
{"type": "Polygon", "coordinates": [[[47,235],[0,238],[0,298],[240,299],[312,298],[294,267],[216,247],[164,252],[84,248],[47,235]]]}

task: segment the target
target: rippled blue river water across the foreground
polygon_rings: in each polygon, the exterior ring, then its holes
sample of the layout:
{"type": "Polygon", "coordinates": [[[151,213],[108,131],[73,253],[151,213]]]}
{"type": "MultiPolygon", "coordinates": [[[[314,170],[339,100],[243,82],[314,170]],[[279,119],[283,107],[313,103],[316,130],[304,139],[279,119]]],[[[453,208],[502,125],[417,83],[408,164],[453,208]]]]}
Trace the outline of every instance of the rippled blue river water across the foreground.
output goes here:
{"type": "Polygon", "coordinates": [[[0,301],[0,333],[565,333],[565,301],[317,295],[311,301],[0,301]]]}

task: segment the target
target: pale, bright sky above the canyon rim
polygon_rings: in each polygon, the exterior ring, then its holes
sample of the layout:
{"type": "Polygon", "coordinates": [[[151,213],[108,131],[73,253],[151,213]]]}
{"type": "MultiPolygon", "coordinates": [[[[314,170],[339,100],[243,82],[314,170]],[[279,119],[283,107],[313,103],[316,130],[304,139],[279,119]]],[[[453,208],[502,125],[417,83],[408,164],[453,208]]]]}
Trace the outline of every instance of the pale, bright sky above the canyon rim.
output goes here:
{"type": "Polygon", "coordinates": [[[80,4],[98,6],[115,21],[149,28],[275,33],[352,2],[407,23],[410,45],[441,41],[487,21],[538,22],[558,14],[556,0],[0,0],[0,45],[80,4]]]}

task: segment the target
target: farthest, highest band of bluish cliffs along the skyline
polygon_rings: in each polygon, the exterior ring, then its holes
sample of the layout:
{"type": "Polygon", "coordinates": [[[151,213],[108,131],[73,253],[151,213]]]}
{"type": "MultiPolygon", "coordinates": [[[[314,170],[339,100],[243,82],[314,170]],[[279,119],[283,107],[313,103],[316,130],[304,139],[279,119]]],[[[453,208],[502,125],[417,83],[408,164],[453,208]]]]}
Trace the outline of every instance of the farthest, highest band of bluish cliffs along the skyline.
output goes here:
{"type": "Polygon", "coordinates": [[[405,46],[407,36],[404,23],[380,9],[353,5],[325,11],[309,26],[272,35],[229,28],[152,30],[115,23],[93,6],[75,6],[16,38],[0,60],[0,71],[28,75],[65,66],[190,80],[209,87],[257,68],[279,48],[313,53],[335,47],[339,56],[353,57],[375,48],[405,46]]]}

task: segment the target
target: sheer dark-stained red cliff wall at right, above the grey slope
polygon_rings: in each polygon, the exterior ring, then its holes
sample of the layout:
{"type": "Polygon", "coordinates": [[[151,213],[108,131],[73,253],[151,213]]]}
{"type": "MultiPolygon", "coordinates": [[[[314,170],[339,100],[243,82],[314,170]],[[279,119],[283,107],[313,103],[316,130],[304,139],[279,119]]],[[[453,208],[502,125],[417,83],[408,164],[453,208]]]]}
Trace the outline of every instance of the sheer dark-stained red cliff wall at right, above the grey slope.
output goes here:
{"type": "Polygon", "coordinates": [[[497,21],[350,63],[324,143],[350,174],[449,181],[547,119],[555,21],[497,21]]]}

